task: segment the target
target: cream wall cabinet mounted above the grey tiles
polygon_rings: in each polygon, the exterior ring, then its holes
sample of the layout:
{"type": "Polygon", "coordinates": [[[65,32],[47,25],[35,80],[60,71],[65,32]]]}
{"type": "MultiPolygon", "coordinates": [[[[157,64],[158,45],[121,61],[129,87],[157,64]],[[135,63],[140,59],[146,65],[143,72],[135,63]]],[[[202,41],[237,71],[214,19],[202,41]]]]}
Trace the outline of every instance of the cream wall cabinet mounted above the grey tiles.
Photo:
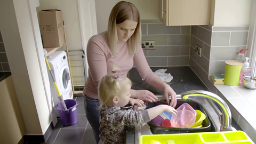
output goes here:
{"type": "Polygon", "coordinates": [[[166,26],[210,25],[211,0],[159,0],[159,20],[166,26]]]}

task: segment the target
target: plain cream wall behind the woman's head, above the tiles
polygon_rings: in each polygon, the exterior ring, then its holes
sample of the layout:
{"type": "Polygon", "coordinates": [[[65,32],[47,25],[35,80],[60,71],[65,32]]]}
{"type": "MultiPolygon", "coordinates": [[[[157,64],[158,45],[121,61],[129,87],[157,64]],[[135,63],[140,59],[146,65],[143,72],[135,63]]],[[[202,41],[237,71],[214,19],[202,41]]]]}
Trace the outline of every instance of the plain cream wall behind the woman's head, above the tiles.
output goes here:
{"type": "MultiPolygon", "coordinates": [[[[98,34],[107,30],[108,18],[112,8],[119,0],[95,0],[98,34]]],[[[127,0],[133,3],[140,12],[141,20],[159,19],[157,0],[127,0]]]]}

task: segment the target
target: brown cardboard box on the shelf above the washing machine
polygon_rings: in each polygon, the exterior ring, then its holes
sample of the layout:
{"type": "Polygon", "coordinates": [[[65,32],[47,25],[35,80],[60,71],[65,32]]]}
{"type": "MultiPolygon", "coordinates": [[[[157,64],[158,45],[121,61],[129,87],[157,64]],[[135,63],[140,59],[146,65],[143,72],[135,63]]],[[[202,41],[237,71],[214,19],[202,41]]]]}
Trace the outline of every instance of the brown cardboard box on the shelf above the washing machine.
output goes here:
{"type": "Polygon", "coordinates": [[[65,44],[61,10],[39,12],[43,47],[60,47],[65,44]]]}

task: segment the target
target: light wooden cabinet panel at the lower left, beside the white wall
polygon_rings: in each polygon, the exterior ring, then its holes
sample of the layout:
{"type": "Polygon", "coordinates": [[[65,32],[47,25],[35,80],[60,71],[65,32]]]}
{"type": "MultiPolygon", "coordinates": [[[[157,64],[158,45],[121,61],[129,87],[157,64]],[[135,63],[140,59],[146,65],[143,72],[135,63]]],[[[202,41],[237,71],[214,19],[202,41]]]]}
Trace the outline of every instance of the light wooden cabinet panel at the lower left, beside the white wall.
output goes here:
{"type": "Polygon", "coordinates": [[[17,144],[26,127],[11,76],[0,82],[0,101],[0,143],[17,144]]]}

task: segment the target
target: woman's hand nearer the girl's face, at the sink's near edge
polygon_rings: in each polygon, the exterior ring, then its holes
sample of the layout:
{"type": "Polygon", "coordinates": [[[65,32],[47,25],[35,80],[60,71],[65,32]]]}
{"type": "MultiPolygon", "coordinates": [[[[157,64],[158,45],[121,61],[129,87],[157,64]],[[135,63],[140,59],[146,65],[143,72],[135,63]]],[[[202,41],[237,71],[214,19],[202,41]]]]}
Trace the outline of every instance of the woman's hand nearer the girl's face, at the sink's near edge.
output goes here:
{"type": "Polygon", "coordinates": [[[158,98],[155,96],[154,93],[151,93],[148,90],[138,90],[135,91],[135,95],[133,98],[137,98],[143,101],[149,101],[149,102],[157,102],[159,101],[158,98]]]}

